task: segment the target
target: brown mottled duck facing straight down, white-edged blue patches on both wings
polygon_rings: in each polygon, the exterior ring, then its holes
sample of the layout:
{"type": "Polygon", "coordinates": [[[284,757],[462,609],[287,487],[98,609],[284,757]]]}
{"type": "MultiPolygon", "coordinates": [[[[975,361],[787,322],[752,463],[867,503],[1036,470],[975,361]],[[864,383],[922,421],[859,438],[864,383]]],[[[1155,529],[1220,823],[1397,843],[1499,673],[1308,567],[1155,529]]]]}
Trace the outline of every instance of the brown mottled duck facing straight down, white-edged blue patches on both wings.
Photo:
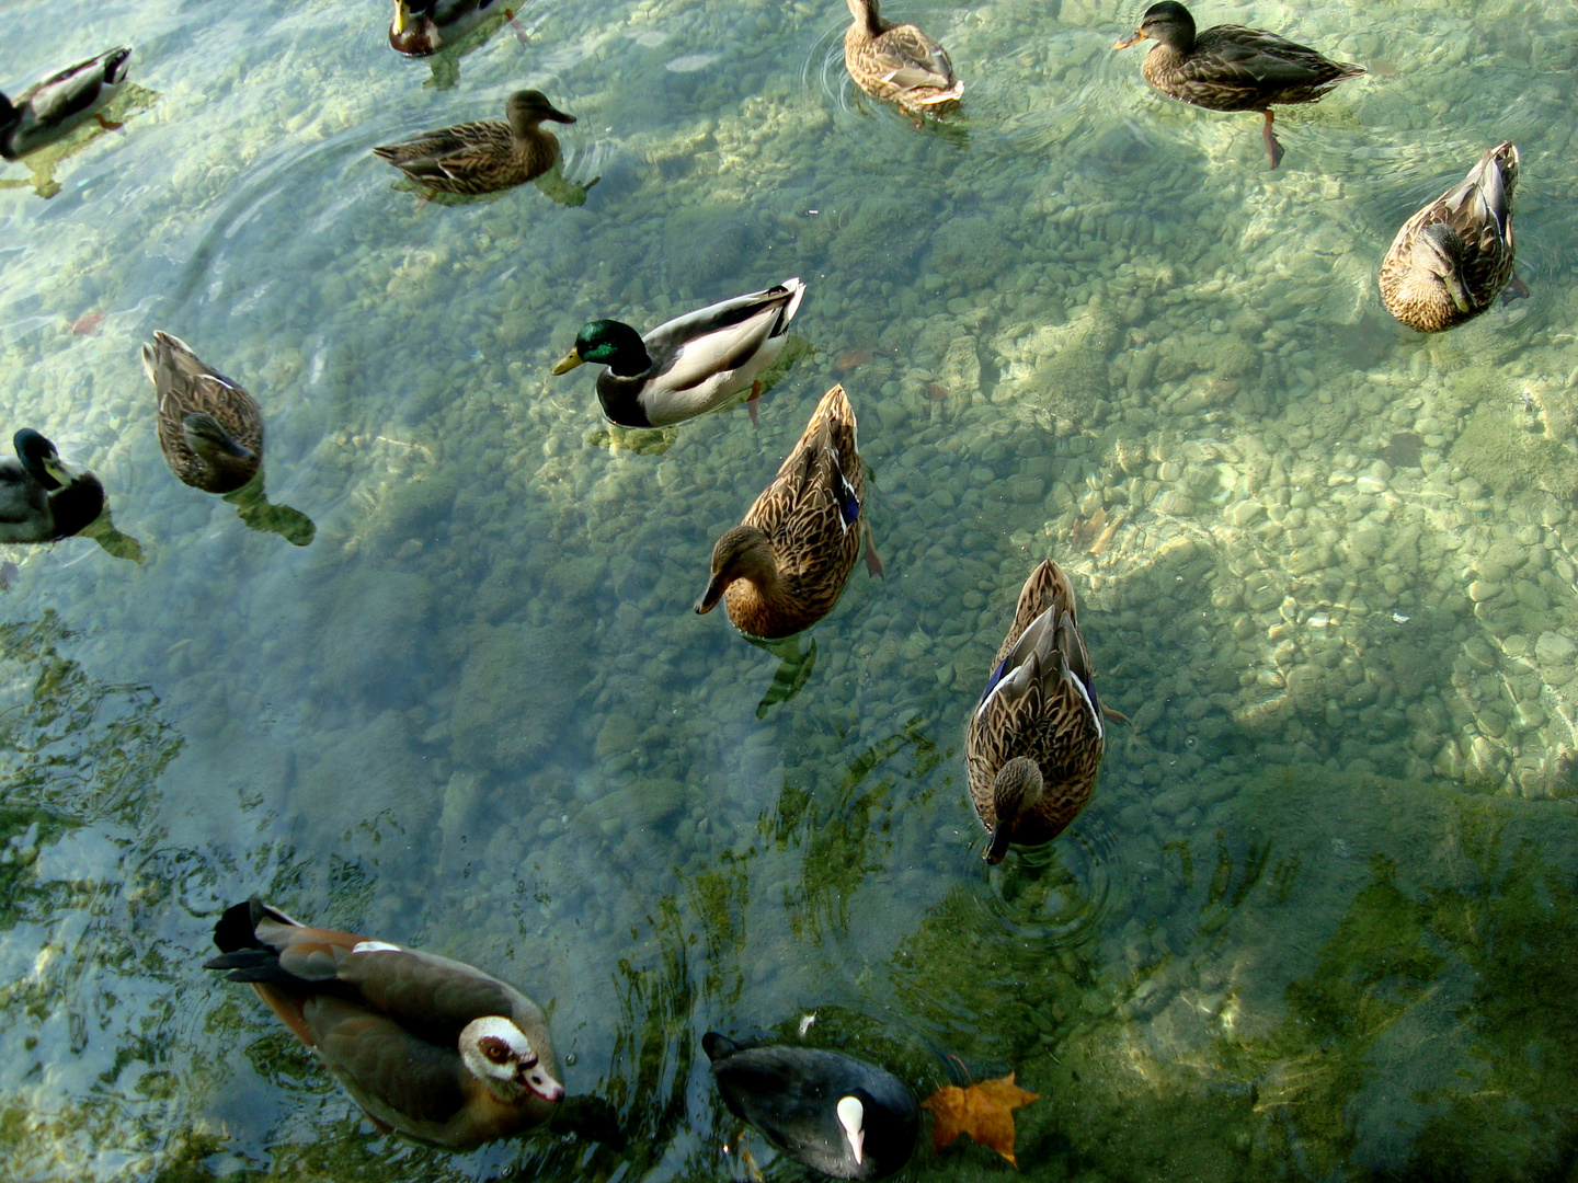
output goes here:
{"type": "MultiPolygon", "coordinates": [[[[1075,590],[1051,558],[1019,592],[986,692],[964,733],[970,800],[1000,863],[1008,844],[1048,842],[1075,820],[1106,746],[1075,590]]],[[[1120,718],[1120,716],[1119,716],[1120,718]]]]}

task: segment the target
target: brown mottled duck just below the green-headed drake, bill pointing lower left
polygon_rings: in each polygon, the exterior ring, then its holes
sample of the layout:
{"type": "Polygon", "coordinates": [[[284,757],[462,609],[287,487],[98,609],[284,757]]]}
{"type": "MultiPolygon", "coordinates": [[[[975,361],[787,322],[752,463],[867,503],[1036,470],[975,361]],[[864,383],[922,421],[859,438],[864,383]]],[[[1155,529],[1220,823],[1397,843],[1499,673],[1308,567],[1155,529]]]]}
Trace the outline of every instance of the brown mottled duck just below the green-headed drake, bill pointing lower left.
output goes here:
{"type": "Polygon", "coordinates": [[[712,582],[696,610],[724,599],[737,629],[767,640],[811,628],[838,603],[862,539],[866,566],[882,574],[865,497],[855,412],[833,386],[745,522],[712,547],[712,582]]]}

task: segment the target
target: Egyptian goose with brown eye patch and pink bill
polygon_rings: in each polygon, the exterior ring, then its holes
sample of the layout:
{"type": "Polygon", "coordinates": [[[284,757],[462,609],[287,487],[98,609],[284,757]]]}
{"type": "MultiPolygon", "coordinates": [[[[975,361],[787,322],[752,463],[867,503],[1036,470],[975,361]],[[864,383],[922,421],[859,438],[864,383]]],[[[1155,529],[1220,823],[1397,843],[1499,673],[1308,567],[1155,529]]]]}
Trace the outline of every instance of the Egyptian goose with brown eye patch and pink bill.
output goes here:
{"type": "Polygon", "coordinates": [[[204,968],[249,983],[380,1129],[472,1150],[559,1112],[548,1016],[491,973],[257,899],[226,909],[213,943],[204,968]]]}

